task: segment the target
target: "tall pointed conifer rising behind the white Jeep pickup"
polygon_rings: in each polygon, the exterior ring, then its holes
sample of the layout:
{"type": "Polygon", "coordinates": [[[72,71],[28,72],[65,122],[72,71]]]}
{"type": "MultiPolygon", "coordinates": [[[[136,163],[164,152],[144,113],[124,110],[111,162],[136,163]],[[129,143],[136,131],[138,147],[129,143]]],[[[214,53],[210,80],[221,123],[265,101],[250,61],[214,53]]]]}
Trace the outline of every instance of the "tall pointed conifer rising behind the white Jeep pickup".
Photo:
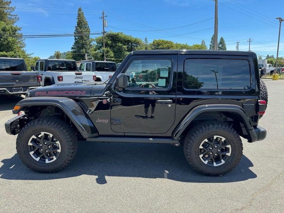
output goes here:
{"type": "MultiPolygon", "coordinates": [[[[74,32],[74,44],[72,46],[72,52],[73,53],[88,53],[90,46],[91,46],[91,39],[90,39],[90,28],[88,25],[88,22],[86,21],[86,18],[84,16],[84,12],[82,11],[82,8],[79,7],[78,14],[77,14],[77,25],[75,26],[75,32],[74,32]],[[76,35],[76,34],[87,34],[87,35],[76,35]]],[[[73,54],[73,59],[76,61],[84,60],[85,55],[84,54],[73,54]]]]}

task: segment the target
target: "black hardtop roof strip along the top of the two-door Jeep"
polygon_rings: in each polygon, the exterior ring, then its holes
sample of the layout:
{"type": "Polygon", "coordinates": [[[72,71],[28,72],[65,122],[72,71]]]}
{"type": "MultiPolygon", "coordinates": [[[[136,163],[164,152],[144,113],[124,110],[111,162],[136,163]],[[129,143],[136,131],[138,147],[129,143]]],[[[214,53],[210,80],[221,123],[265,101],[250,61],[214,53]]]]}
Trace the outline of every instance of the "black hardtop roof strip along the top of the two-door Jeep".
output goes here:
{"type": "Polygon", "coordinates": [[[132,55],[160,55],[160,54],[196,54],[196,55],[238,55],[252,56],[250,51],[231,51],[231,50],[177,50],[177,49],[158,49],[158,50],[134,50],[132,55]]]}

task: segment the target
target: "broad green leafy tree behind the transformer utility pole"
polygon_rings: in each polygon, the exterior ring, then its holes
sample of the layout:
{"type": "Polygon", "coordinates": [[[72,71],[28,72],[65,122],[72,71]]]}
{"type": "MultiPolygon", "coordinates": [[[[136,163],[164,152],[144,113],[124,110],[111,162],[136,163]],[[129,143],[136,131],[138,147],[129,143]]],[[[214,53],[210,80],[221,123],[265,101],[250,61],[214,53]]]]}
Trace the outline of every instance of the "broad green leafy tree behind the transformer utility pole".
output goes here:
{"type": "MultiPolygon", "coordinates": [[[[122,62],[127,54],[134,50],[144,49],[141,39],[126,35],[121,32],[109,32],[105,34],[106,58],[117,63],[122,62]]],[[[103,37],[93,39],[89,51],[95,60],[103,60],[103,37]]]]}

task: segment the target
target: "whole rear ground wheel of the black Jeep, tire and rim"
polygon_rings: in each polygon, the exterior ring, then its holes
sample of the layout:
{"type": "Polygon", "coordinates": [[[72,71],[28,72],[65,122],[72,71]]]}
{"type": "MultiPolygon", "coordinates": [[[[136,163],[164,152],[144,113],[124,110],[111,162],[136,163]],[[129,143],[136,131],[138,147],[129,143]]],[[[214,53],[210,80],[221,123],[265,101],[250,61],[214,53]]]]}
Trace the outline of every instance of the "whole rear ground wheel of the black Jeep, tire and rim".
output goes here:
{"type": "Polygon", "coordinates": [[[243,144],[239,134],[221,122],[201,122],[184,140],[188,163],[198,172],[219,176],[230,172],[239,163],[243,144]]]}

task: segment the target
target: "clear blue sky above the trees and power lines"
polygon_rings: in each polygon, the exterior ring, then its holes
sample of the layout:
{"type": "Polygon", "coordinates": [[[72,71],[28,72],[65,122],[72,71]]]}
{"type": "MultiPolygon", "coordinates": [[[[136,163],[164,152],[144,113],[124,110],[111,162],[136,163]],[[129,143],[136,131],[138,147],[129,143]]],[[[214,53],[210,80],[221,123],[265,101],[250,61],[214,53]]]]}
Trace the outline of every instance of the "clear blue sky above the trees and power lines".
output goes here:
{"type": "MultiPolygon", "coordinates": [[[[20,20],[24,35],[74,33],[76,11],[82,7],[91,32],[102,31],[101,11],[107,15],[106,31],[123,32],[134,37],[162,38],[189,45],[200,44],[204,39],[209,46],[214,33],[214,2],[212,0],[12,0],[15,14],[20,20]],[[208,21],[204,21],[210,19],[208,21]],[[166,31],[127,31],[168,29],[166,31]],[[212,28],[212,29],[208,29],[212,28]],[[196,32],[199,31],[199,32],[196,32]],[[194,33],[193,33],[194,32],[194,33]],[[189,34],[185,34],[189,33],[189,34]],[[184,36],[175,36],[185,34],[184,36]],[[186,36],[186,37],[185,37],[186,36]]],[[[284,1],[264,0],[219,0],[219,32],[224,37],[227,50],[235,50],[235,42],[240,41],[239,50],[248,50],[247,40],[252,38],[251,50],[266,56],[276,56],[279,21],[284,18],[284,1]],[[277,5],[277,6],[274,6],[277,5]]],[[[284,22],[282,23],[279,56],[284,56],[284,22]]],[[[94,37],[94,36],[91,36],[94,37]]],[[[27,38],[26,50],[33,56],[47,58],[54,51],[68,51],[74,37],[27,38]]]]}

